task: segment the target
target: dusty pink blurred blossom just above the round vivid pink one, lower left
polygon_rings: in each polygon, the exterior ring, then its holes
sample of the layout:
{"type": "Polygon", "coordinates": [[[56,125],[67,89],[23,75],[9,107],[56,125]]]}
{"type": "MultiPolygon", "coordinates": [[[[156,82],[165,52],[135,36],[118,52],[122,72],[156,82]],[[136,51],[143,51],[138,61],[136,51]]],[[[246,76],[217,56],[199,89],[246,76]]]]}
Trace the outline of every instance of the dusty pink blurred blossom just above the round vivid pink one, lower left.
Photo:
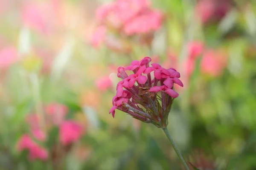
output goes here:
{"type": "Polygon", "coordinates": [[[50,103],[45,107],[45,111],[53,124],[60,125],[65,120],[68,108],[60,103],[50,103]]]}

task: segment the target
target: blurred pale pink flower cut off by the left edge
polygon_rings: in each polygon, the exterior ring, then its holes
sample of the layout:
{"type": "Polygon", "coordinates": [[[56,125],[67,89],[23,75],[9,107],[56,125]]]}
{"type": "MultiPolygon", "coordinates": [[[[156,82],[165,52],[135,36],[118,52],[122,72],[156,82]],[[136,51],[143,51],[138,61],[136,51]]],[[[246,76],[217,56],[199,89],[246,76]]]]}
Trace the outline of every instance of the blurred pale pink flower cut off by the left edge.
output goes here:
{"type": "Polygon", "coordinates": [[[0,68],[8,68],[15,61],[17,61],[17,50],[8,46],[0,50],[0,68]]]}

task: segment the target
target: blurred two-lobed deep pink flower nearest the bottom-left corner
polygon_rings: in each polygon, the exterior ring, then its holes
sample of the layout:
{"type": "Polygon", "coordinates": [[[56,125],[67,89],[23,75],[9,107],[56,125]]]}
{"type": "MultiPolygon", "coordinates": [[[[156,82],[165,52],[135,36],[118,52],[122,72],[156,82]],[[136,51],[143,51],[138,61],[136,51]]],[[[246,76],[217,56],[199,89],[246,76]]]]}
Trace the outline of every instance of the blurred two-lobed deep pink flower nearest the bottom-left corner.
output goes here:
{"type": "Polygon", "coordinates": [[[35,159],[41,159],[46,160],[48,158],[48,152],[43,147],[39,146],[37,143],[35,143],[29,135],[24,134],[20,137],[20,139],[17,142],[17,150],[23,151],[28,150],[29,151],[29,159],[31,161],[35,159]]]}

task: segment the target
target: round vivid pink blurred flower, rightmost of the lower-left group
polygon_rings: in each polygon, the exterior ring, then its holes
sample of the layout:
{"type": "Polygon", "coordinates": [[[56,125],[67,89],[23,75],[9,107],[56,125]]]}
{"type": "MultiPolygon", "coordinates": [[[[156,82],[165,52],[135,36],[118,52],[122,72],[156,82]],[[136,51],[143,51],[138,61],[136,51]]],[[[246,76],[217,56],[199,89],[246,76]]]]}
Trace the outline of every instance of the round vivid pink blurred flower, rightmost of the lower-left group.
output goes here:
{"type": "Polygon", "coordinates": [[[80,139],[83,133],[83,127],[73,121],[65,121],[60,126],[60,142],[68,145],[80,139]]]}

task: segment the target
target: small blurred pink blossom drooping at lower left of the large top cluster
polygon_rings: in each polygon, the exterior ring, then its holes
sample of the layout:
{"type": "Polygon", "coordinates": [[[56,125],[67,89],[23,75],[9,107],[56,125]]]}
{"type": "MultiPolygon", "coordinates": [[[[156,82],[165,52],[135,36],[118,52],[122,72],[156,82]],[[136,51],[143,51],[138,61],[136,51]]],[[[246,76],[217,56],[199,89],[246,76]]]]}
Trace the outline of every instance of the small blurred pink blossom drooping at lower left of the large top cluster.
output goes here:
{"type": "Polygon", "coordinates": [[[105,26],[99,26],[94,31],[92,37],[91,37],[91,44],[93,47],[98,48],[102,42],[104,42],[105,34],[106,34],[106,28],[105,26]]]}

